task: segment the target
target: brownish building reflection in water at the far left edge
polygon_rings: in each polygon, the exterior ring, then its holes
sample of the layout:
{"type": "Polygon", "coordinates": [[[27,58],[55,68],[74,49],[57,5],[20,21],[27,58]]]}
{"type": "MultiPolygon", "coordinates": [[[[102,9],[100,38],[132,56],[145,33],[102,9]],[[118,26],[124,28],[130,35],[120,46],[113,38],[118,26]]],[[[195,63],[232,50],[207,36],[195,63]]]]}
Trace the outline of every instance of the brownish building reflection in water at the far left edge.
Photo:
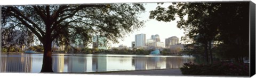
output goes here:
{"type": "Polygon", "coordinates": [[[21,54],[21,57],[15,55],[1,57],[1,72],[31,72],[32,59],[30,55],[21,54]]]}

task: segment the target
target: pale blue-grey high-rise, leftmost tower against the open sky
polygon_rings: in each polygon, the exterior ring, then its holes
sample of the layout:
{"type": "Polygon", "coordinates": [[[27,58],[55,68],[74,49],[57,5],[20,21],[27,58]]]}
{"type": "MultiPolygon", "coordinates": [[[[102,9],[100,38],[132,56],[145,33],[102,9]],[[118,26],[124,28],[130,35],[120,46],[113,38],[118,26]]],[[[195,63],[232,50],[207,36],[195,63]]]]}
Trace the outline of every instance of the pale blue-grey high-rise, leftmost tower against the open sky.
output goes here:
{"type": "Polygon", "coordinates": [[[146,46],[146,34],[135,35],[135,47],[146,46]]]}

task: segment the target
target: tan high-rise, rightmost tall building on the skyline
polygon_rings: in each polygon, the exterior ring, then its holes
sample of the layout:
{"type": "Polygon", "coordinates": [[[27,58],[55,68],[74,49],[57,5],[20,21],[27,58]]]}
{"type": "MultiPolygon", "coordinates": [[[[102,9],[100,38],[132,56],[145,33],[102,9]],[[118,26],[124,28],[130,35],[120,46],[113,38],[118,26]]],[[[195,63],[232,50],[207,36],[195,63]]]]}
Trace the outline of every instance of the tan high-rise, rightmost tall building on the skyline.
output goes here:
{"type": "Polygon", "coordinates": [[[179,38],[177,36],[172,36],[165,39],[165,47],[170,47],[171,45],[179,44],[179,38]]]}

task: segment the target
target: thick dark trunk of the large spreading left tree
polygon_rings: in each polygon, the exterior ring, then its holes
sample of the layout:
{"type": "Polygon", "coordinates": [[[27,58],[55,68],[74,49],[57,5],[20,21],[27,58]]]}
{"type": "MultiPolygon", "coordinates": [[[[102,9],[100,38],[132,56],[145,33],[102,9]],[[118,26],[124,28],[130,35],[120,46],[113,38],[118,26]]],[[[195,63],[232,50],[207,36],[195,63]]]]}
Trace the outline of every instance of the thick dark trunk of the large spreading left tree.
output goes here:
{"type": "Polygon", "coordinates": [[[52,45],[50,40],[46,40],[44,44],[44,56],[41,72],[53,72],[52,71],[52,45]]]}

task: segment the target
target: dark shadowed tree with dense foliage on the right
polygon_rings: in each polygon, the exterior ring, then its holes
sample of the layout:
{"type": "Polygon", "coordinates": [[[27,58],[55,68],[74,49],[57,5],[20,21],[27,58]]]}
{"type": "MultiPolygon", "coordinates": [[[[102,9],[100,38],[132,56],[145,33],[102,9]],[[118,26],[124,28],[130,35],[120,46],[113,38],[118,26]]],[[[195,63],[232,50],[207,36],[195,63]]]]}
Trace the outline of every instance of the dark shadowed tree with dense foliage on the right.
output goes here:
{"type": "Polygon", "coordinates": [[[236,59],[248,56],[249,2],[173,3],[167,8],[158,6],[150,11],[149,18],[170,22],[176,16],[180,18],[177,27],[185,30],[190,40],[204,46],[206,62],[209,62],[208,52],[213,60],[211,45],[214,41],[226,45],[227,50],[222,51],[226,56],[236,59]]]}

